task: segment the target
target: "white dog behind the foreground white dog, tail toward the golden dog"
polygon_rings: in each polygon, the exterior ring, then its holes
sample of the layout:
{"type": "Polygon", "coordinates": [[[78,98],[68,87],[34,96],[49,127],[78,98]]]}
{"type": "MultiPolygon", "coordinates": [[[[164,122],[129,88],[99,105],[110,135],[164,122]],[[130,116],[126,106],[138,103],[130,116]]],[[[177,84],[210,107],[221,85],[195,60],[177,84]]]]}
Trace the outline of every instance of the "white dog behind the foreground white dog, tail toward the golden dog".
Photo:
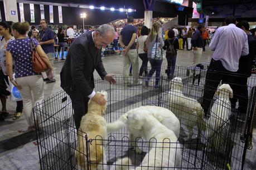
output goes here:
{"type": "MultiPolygon", "coordinates": [[[[180,121],[178,120],[178,118],[170,110],[158,106],[141,106],[126,112],[117,121],[107,124],[108,132],[114,132],[120,128],[127,126],[127,117],[130,114],[137,113],[143,113],[146,115],[151,114],[157,119],[157,121],[162,123],[168,129],[171,129],[175,133],[177,138],[180,136],[180,121]]],[[[132,131],[129,126],[127,127],[130,135],[129,139],[131,141],[136,141],[139,139],[139,137],[142,137],[143,132],[138,131],[138,129],[136,131],[132,131]]],[[[136,143],[132,144],[134,147],[136,146],[136,143]]],[[[138,147],[136,147],[136,152],[141,153],[142,151],[138,147]]]]}

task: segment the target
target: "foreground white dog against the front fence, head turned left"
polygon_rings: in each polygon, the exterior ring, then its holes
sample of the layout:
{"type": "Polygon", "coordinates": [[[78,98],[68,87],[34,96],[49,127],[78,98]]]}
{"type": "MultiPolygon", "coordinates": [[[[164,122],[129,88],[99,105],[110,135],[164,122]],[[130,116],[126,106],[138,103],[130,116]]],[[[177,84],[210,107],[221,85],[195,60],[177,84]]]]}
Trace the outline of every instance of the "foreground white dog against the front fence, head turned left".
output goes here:
{"type": "Polygon", "coordinates": [[[142,137],[150,141],[149,152],[136,169],[163,170],[181,167],[180,143],[173,131],[151,114],[143,112],[128,114],[127,124],[132,131],[142,132],[142,137]]]}

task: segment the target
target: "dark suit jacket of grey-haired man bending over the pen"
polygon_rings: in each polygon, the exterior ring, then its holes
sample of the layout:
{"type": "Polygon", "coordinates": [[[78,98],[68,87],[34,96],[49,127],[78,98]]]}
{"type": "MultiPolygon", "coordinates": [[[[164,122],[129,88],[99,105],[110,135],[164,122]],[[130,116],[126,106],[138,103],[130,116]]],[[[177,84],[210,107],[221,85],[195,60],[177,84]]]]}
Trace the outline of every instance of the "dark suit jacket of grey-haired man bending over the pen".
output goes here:
{"type": "Polygon", "coordinates": [[[60,86],[67,92],[75,92],[76,98],[89,96],[93,92],[93,72],[103,79],[107,72],[102,63],[101,49],[96,54],[92,32],[82,34],[71,44],[64,66],[60,72],[60,86]]]}

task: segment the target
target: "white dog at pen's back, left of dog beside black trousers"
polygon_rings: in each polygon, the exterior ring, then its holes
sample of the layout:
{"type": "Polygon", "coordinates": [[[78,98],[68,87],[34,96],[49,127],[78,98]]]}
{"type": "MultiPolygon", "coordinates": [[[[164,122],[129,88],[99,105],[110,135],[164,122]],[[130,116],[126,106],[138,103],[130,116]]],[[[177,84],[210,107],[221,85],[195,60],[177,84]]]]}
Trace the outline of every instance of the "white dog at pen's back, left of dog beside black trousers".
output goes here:
{"type": "Polygon", "coordinates": [[[169,109],[183,121],[189,132],[187,140],[191,139],[194,127],[205,131],[204,111],[201,104],[194,98],[183,95],[183,84],[180,77],[175,77],[171,81],[171,91],[168,92],[169,109]]]}

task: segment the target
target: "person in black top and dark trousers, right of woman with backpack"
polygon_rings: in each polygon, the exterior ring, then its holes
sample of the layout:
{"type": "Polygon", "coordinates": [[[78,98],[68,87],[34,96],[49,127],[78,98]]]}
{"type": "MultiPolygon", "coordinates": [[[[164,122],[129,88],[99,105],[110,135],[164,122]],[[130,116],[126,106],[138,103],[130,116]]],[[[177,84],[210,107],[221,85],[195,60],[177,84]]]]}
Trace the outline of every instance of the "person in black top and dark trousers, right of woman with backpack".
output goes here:
{"type": "Polygon", "coordinates": [[[165,40],[165,46],[163,46],[163,49],[168,49],[170,44],[173,46],[175,50],[175,54],[168,53],[168,50],[166,51],[166,59],[167,59],[167,70],[166,74],[168,79],[173,78],[173,73],[175,71],[175,64],[176,64],[176,58],[177,58],[177,49],[179,47],[178,44],[178,38],[175,38],[175,32],[173,30],[168,31],[168,39],[165,40]]]}

